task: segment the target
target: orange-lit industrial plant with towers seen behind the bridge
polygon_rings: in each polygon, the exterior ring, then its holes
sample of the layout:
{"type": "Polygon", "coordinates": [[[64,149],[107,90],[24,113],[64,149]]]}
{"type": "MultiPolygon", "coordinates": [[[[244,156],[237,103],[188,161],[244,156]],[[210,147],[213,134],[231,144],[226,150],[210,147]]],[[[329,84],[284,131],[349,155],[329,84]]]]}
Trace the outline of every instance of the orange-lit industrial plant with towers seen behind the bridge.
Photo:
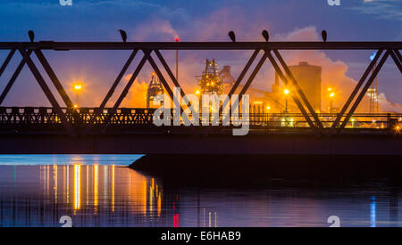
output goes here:
{"type": "MultiPolygon", "coordinates": [[[[218,62],[213,59],[205,59],[205,69],[201,75],[196,76],[197,90],[195,94],[229,94],[230,87],[232,87],[236,79],[231,74],[231,67],[224,65],[221,70],[218,62]]],[[[298,86],[306,94],[308,101],[311,103],[313,109],[317,112],[337,113],[339,107],[334,106],[333,97],[335,92],[331,87],[322,87],[322,67],[310,64],[306,61],[300,61],[297,65],[289,66],[290,72],[297,80],[298,86]],[[326,94],[322,98],[322,94],[326,94]],[[328,100],[325,104],[329,106],[322,108],[322,100],[328,100]]],[[[266,81],[270,83],[270,81],[266,81]]],[[[286,86],[278,73],[274,72],[274,81],[271,86],[271,91],[257,89],[255,87],[248,88],[250,95],[251,108],[250,110],[255,113],[298,113],[299,109],[297,104],[292,100],[292,89],[286,86]]],[[[239,89],[243,88],[239,85],[239,89]]],[[[152,73],[151,81],[147,88],[147,108],[152,108],[152,101],[158,94],[164,94],[163,84],[159,80],[155,72],[152,73]]],[[[379,112],[378,102],[378,79],[375,78],[373,85],[367,91],[369,99],[370,113],[379,112]]]]}

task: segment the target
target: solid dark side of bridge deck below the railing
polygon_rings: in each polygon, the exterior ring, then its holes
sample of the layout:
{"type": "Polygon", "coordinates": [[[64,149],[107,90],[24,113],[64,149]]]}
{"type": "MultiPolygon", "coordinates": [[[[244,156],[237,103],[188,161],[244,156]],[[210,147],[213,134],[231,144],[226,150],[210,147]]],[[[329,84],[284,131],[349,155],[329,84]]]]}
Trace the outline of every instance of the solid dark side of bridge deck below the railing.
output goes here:
{"type": "Polygon", "coordinates": [[[104,134],[1,135],[2,154],[301,154],[402,155],[400,135],[104,134]]]}

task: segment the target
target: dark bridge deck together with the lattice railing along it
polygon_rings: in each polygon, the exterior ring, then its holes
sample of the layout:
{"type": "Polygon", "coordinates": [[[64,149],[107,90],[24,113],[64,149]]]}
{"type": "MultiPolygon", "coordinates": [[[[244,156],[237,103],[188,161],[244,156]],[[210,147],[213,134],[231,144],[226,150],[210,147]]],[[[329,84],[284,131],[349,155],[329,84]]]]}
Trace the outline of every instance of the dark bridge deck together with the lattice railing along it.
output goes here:
{"type": "Polygon", "coordinates": [[[119,109],[108,120],[111,109],[97,116],[96,108],[63,110],[75,137],[52,108],[0,107],[0,153],[402,155],[402,135],[389,127],[401,114],[354,114],[353,124],[331,136],[336,115],[319,114],[327,127],[318,136],[300,114],[250,113],[248,135],[233,136],[232,126],[156,127],[153,109],[119,109]]]}

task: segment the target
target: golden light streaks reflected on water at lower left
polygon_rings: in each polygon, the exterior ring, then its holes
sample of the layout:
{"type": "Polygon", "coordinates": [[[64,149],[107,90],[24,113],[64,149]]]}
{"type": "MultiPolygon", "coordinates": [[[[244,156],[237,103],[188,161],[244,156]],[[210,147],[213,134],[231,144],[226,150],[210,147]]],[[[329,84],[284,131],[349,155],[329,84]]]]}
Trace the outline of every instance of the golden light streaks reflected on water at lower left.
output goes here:
{"type": "Polygon", "coordinates": [[[162,187],[127,167],[0,166],[0,178],[2,226],[163,225],[162,187]]]}

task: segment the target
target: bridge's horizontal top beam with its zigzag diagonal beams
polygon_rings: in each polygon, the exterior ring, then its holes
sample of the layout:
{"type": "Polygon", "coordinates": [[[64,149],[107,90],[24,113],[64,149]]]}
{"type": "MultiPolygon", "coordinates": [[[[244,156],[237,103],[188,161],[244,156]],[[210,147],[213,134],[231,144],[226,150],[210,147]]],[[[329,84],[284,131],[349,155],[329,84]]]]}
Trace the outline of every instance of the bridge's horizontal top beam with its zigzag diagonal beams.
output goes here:
{"type": "MultiPolygon", "coordinates": [[[[164,60],[161,50],[251,50],[254,51],[244,69],[239,74],[239,78],[236,80],[236,83],[230,89],[230,94],[235,93],[236,89],[239,87],[242,80],[246,77],[248,70],[251,68],[258,53],[263,53],[260,60],[256,63],[255,68],[251,71],[251,75],[247,78],[246,84],[243,86],[239,93],[239,98],[247,93],[247,89],[252,84],[255,76],[263,66],[264,62],[268,59],[273,68],[276,70],[278,75],[284,81],[285,85],[291,86],[294,88],[295,93],[291,94],[294,102],[297,104],[298,109],[301,111],[303,117],[306,119],[306,123],[308,126],[314,131],[316,134],[322,134],[322,121],[320,120],[317,113],[314,111],[310,102],[306,98],[306,94],[303,93],[300,86],[298,86],[297,79],[290,72],[290,69],[287,63],[281,56],[280,51],[283,50],[376,50],[377,53],[373,59],[373,61],[369,64],[367,69],[365,69],[362,78],[357,83],[355,89],[352,94],[348,97],[348,101],[343,106],[340,113],[337,115],[335,121],[331,126],[331,132],[336,132],[337,130],[341,130],[347,126],[348,120],[354,114],[357,106],[364,98],[364,94],[366,94],[368,88],[372,85],[374,78],[378,75],[381,70],[384,62],[390,56],[393,61],[395,61],[399,71],[402,73],[402,56],[399,53],[399,50],[402,49],[402,42],[242,42],[242,43],[229,43],[229,42],[149,42],[149,43],[113,43],[113,42],[37,42],[37,43],[18,43],[18,42],[1,42],[0,43],[1,50],[10,50],[10,53],[5,58],[4,63],[0,67],[0,77],[2,76],[4,69],[8,66],[9,62],[12,60],[15,53],[20,53],[22,56],[22,60],[17,66],[17,68],[13,72],[12,78],[8,81],[7,85],[4,88],[2,94],[0,94],[0,105],[4,102],[5,96],[8,94],[10,89],[12,88],[16,78],[21,73],[21,69],[28,65],[30,71],[32,72],[34,78],[37,80],[38,85],[42,88],[43,92],[46,94],[48,101],[51,103],[53,112],[63,124],[63,127],[67,130],[69,135],[77,135],[76,130],[71,125],[71,119],[67,118],[67,111],[62,109],[62,106],[56,101],[54,98],[54,94],[52,94],[49,86],[47,86],[46,81],[42,74],[39,72],[38,67],[32,61],[31,54],[35,53],[38,57],[38,61],[42,65],[43,69],[45,69],[46,74],[50,78],[54,87],[57,90],[57,93],[63,99],[65,106],[68,109],[73,108],[73,103],[69,98],[68,94],[65,92],[61,81],[57,78],[54,73],[54,69],[52,69],[50,63],[46,60],[46,57],[43,50],[54,50],[54,51],[69,51],[69,50],[130,50],[130,57],[125,62],[124,66],[121,69],[121,72],[114,80],[113,85],[109,89],[108,93],[105,95],[105,99],[99,105],[99,107],[95,110],[94,114],[88,120],[86,132],[89,132],[92,127],[96,124],[96,118],[103,118],[103,123],[105,125],[104,130],[107,125],[110,123],[113,118],[115,118],[115,114],[119,109],[122,100],[129,93],[130,87],[132,86],[134,80],[138,77],[139,72],[143,69],[145,63],[148,61],[152,68],[155,70],[156,75],[160,79],[165,88],[167,94],[171,98],[173,98],[172,89],[169,86],[167,79],[163,77],[162,70],[159,69],[156,64],[154,58],[152,57],[152,53],[155,53],[157,59],[161,62],[163,69],[165,69],[168,77],[171,79],[172,83],[176,87],[180,87],[181,96],[185,96],[183,89],[181,88],[179,82],[175,78],[170,69],[168,63],[164,60]],[[112,97],[114,90],[120,84],[121,78],[129,69],[130,64],[138,55],[138,52],[143,53],[142,59],[139,61],[136,69],[132,73],[129,82],[124,86],[121,94],[119,95],[116,102],[114,102],[113,108],[108,110],[106,115],[103,115],[103,111],[105,109],[106,103],[112,97]],[[276,59],[275,59],[276,58],[276,59]],[[377,65],[375,65],[377,64],[377,65]],[[374,68],[375,66],[375,68],[374,68]],[[373,72],[371,73],[371,71],[373,72]],[[360,92],[360,93],[359,93],[360,92]],[[357,95],[357,97],[356,97],[357,95]],[[353,103],[352,103],[353,102],[353,103]],[[350,108],[350,109],[349,109],[350,108]]],[[[229,96],[230,97],[230,96],[229,96]]],[[[227,102],[225,102],[227,103],[227,102]]],[[[225,105],[223,104],[223,106],[225,105]]],[[[222,111],[222,109],[221,109],[222,111]]]]}

